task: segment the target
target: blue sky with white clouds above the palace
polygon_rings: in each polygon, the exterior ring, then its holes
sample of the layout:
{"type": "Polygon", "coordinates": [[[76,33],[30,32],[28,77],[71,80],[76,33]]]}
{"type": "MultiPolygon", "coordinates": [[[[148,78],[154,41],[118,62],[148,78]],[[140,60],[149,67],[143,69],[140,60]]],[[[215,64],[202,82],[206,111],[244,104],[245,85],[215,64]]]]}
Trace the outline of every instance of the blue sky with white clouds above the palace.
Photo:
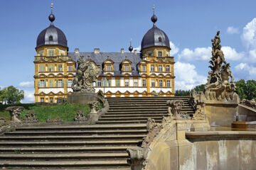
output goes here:
{"type": "Polygon", "coordinates": [[[139,48],[152,23],[171,41],[175,57],[176,89],[191,89],[206,82],[210,39],[220,30],[221,45],[235,80],[256,79],[256,1],[121,1],[121,0],[2,0],[0,5],[0,86],[25,90],[23,102],[33,102],[33,56],[36,38],[50,25],[53,2],[54,25],[63,30],[70,52],[78,47],[92,52],[119,52],[139,48]]]}

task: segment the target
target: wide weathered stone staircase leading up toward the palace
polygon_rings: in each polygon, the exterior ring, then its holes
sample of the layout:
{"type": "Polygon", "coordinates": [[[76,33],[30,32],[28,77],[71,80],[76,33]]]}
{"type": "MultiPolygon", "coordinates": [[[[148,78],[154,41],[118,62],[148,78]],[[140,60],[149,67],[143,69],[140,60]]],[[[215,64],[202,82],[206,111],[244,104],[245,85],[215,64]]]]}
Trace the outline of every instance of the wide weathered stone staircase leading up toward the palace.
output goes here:
{"type": "Polygon", "coordinates": [[[34,125],[0,137],[0,169],[131,169],[127,148],[146,136],[146,120],[161,122],[166,101],[188,98],[107,98],[110,110],[95,125],[34,125]]]}

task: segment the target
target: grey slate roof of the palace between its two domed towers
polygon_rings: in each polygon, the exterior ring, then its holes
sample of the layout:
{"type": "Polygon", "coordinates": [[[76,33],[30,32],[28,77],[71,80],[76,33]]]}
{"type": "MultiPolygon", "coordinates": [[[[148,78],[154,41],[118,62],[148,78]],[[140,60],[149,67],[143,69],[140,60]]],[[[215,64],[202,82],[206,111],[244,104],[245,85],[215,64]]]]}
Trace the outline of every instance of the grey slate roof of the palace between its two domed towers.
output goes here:
{"type": "MultiPolygon", "coordinates": [[[[84,56],[85,60],[90,57],[90,60],[93,60],[96,64],[102,65],[102,69],[103,62],[105,62],[105,60],[107,60],[107,56],[109,56],[109,59],[114,62],[114,76],[122,76],[122,61],[126,59],[132,62],[132,76],[139,76],[138,64],[142,60],[142,54],[134,52],[100,52],[97,54],[94,52],[68,52],[68,56],[71,57],[71,59],[75,62],[80,56],[84,56]]],[[[103,74],[101,74],[101,76],[102,75],[103,74]]]]}

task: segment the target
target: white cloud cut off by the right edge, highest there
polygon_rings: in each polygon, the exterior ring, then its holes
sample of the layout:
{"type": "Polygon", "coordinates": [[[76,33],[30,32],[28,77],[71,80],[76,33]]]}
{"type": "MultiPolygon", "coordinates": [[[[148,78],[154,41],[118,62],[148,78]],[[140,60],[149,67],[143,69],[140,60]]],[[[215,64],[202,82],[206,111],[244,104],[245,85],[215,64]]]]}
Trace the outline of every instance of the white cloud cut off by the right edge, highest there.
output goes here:
{"type": "Polygon", "coordinates": [[[256,49],[256,18],[242,29],[241,39],[247,50],[256,49]]]}

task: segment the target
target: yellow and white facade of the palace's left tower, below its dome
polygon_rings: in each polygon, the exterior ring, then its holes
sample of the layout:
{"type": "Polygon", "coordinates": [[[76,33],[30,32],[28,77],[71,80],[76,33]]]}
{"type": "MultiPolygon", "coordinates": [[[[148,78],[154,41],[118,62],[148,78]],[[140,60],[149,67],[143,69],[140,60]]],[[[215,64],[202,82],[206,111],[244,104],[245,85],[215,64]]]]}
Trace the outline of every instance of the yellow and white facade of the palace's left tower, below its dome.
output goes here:
{"type": "Polygon", "coordinates": [[[68,47],[43,45],[36,52],[35,101],[55,103],[57,98],[66,98],[72,93],[75,76],[75,61],[68,57],[68,47]]]}

